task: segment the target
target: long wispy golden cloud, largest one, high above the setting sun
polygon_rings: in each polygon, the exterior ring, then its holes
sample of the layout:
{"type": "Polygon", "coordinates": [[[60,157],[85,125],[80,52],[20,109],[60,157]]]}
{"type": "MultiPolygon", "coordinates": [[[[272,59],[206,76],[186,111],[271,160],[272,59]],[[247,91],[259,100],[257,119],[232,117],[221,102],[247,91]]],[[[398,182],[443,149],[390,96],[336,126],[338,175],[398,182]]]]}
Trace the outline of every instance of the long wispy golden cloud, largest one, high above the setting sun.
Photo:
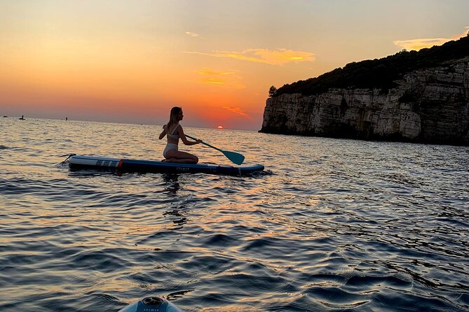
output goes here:
{"type": "Polygon", "coordinates": [[[228,57],[231,59],[241,59],[243,61],[258,62],[271,65],[283,65],[290,62],[313,62],[315,55],[311,52],[294,51],[287,49],[248,49],[242,52],[212,51],[204,52],[184,52],[196,55],[207,55],[210,57],[228,57]]]}

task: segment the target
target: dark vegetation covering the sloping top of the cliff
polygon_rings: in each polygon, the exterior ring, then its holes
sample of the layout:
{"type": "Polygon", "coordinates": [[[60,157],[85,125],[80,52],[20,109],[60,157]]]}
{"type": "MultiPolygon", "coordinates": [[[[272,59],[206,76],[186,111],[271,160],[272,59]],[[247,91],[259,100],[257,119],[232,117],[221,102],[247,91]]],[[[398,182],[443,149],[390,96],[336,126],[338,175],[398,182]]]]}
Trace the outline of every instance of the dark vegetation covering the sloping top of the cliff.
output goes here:
{"type": "Polygon", "coordinates": [[[395,87],[395,80],[402,78],[405,73],[427,67],[439,66],[451,59],[461,59],[469,55],[468,36],[457,41],[449,41],[433,48],[419,51],[402,50],[395,55],[381,59],[369,59],[362,62],[346,64],[344,68],[334,69],[316,78],[299,80],[296,83],[283,85],[276,89],[271,87],[269,97],[280,94],[301,93],[313,95],[327,92],[329,88],[360,88],[381,89],[387,92],[395,87]]]}

